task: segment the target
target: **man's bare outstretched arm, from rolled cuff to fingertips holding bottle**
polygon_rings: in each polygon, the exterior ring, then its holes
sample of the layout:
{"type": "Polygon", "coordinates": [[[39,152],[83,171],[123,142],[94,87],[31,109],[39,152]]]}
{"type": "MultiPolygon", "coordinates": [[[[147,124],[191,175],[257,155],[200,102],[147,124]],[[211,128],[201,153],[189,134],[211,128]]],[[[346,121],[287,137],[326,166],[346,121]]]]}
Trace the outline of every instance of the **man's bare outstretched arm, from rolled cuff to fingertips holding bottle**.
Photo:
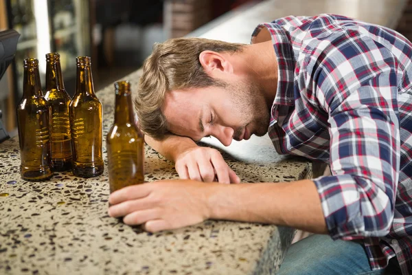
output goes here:
{"type": "Polygon", "coordinates": [[[205,219],[289,225],[326,233],[317,189],[310,180],[278,184],[205,184],[157,181],[128,186],[109,197],[111,217],[149,232],[181,228],[205,219]]]}

